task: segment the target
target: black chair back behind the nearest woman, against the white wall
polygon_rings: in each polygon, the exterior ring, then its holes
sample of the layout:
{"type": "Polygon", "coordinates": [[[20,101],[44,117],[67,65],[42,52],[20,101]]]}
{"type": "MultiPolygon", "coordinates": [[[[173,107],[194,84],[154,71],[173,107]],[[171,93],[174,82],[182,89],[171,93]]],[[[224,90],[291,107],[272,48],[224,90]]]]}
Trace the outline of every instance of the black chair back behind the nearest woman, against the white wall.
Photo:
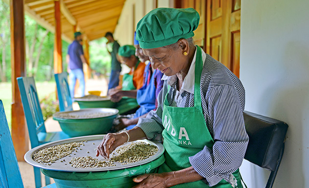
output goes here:
{"type": "Polygon", "coordinates": [[[284,152],[288,125],[252,112],[243,112],[249,143],[244,159],[271,172],[266,188],[271,188],[284,152]]]}

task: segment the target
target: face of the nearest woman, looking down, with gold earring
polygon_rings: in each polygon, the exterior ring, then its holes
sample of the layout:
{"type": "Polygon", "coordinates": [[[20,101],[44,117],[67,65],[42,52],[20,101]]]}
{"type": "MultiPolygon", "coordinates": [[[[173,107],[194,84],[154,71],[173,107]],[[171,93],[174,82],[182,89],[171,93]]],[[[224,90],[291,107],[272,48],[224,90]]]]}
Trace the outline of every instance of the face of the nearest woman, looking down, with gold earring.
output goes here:
{"type": "Polygon", "coordinates": [[[179,45],[173,47],[143,49],[143,52],[149,57],[154,69],[159,69],[166,76],[176,75],[188,64],[188,58],[183,54],[184,51],[188,52],[188,45],[183,46],[179,41],[179,45]]]}

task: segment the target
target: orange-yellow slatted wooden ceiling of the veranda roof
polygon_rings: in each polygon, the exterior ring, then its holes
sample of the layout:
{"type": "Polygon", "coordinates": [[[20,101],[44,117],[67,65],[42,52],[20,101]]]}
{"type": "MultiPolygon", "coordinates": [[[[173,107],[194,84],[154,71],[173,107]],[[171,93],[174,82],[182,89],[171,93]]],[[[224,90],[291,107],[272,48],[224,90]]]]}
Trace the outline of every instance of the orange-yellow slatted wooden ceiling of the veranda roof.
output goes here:
{"type": "MultiPolygon", "coordinates": [[[[4,0],[9,4],[9,0],[4,0]]],[[[70,42],[73,25],[88,40],[104,37],[113,32],[125,0],[59,0],[61,3],[62,39],[70,42]]],[[[54,0],[24,0],[25,13],[47,30],[54,33],[54,0]]]]}

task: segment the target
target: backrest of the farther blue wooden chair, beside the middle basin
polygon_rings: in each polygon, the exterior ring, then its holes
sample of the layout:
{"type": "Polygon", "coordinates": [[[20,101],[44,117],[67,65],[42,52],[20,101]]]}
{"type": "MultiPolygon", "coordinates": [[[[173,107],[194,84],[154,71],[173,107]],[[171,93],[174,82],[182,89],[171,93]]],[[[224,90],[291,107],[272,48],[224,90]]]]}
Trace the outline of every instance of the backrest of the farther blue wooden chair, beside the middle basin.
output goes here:
{"type": "Polygon", "coordinates": [[[67,72],[55,74],[60,111],[73,110],[67,76],[67,72]]]}

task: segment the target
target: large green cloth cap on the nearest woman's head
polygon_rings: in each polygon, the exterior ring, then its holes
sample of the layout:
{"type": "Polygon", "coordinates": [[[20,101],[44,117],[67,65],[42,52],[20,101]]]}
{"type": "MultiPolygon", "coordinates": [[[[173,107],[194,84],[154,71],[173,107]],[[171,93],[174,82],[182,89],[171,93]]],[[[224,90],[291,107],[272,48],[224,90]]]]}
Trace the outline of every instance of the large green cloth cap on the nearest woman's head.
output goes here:
{"type": "Polygon", "coordinates": [[[193,8],[156,8],[144,16],[136,27],[141,48],[157,48],[194,36],[199,13],[193,8]]]}

